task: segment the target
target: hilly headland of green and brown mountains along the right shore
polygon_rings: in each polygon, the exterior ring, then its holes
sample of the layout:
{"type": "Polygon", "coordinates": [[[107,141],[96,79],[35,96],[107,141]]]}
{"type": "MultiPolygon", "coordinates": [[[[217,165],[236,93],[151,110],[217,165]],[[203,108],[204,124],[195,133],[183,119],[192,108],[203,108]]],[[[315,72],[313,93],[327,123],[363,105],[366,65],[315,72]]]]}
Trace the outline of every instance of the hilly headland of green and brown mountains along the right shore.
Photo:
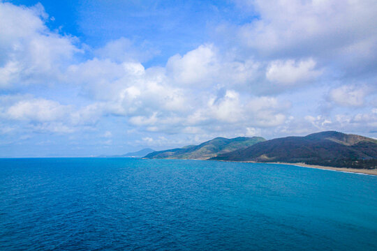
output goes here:
{"type": "Polygon", "coordinates": [[[285,162],[348,169],[377,169],[377,140],[336,131],[270,140],[263,137],[218,137],[198,146],[155,151],[144,158],[285,162]]]}

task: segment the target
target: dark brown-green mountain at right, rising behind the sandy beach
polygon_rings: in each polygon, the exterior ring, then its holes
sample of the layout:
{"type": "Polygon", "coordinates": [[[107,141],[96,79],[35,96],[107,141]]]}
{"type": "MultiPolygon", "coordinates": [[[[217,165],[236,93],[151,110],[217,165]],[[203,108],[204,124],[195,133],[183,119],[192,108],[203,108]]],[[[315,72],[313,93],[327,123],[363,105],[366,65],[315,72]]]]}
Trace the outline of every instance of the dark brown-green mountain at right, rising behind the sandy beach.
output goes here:
{"type": "Polygon", "coordinates": [[[377,140],[341,132],[283,137],[217,155],[211,160],[304,162],[331,167],[377,168],[377,140]]]}

